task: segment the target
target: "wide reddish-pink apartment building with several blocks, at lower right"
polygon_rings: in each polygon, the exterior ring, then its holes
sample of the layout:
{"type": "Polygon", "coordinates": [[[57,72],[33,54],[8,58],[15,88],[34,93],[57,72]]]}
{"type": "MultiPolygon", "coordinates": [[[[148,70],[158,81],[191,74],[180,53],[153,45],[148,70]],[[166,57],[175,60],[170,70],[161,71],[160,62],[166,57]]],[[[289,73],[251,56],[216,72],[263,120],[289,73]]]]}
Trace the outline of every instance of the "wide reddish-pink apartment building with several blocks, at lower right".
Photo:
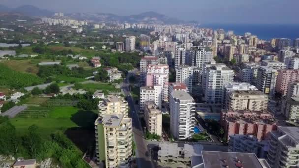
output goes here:
{"type": "Polygon", "coordinates": [[[225,138],[230,135],[254,135],[258,140],[269,139],[269,133],[277,129],[269,112],[226,111],[221,112],[221,125],[225,138]]]}

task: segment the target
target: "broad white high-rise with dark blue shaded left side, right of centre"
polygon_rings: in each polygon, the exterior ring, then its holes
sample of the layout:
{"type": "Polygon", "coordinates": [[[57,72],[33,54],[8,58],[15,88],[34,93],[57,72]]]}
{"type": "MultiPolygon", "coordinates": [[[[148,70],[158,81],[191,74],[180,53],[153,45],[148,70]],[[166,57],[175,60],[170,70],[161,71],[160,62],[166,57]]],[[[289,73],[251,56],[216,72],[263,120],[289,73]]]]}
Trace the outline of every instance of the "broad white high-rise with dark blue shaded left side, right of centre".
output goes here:
{"type": "Polygon", "coordinates": [[[222,103],[225,98],[224,86],[234,81],[234,71],[228,67],[213,65],[207,68],[205,100],[208,103],[222,103]]]}

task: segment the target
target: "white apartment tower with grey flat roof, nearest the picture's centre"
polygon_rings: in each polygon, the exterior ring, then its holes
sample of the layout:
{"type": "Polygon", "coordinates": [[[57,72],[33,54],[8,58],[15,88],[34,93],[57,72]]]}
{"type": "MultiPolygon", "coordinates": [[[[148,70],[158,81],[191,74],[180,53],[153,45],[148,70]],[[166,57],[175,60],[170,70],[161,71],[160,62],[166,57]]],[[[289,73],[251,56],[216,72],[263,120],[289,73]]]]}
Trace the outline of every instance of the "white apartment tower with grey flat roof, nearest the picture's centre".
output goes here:
{"type": "Polygon", "coordinates": [[[170,130],[177,140],[192,138],[195,125],[195,102],[188,92],[175,90],[170,98],[170,130]]]}

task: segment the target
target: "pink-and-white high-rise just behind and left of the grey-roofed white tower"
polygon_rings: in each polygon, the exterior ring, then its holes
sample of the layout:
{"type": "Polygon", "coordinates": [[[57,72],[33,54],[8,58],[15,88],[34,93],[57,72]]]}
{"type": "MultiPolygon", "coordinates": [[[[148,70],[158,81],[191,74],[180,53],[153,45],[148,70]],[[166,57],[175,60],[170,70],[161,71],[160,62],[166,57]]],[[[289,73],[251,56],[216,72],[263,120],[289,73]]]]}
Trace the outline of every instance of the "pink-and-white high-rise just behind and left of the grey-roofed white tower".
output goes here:
{"type": "Polygon", "coordinates": [[[165,64],[149,64],[146,76],[146,86],[161,85],[162,100],[168,101],[169,66],[165,64]]]}

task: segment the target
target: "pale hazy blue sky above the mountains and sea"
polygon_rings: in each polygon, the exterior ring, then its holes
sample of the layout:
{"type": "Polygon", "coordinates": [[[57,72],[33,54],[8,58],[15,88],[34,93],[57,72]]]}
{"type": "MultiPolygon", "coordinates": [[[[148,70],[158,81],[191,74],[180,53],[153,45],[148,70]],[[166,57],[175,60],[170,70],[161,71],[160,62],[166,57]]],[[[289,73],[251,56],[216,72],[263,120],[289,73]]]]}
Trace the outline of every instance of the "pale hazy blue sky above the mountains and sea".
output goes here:
{"type": "Polygon", "coordinates": [[[31,4],[64,13],[132,15],[154,11],[202,24],[299,24],[299,0],[0,0],[0,4],[31,4]]]}

